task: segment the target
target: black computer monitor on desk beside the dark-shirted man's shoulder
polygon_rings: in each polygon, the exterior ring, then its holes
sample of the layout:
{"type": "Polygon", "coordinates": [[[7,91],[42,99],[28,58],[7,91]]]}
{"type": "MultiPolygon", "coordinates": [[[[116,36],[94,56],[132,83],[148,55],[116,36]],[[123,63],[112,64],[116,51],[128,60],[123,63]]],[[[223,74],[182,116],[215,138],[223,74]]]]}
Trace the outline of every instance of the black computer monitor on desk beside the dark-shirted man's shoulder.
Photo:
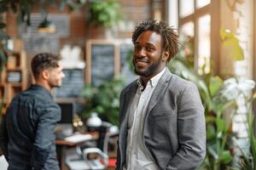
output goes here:
{"type": "Polygon", "coordinates": [[[59,124],[73,123],[73,116],[75,114],[74,103],[57,103],[61,107],[61,121],[59,124]]]}

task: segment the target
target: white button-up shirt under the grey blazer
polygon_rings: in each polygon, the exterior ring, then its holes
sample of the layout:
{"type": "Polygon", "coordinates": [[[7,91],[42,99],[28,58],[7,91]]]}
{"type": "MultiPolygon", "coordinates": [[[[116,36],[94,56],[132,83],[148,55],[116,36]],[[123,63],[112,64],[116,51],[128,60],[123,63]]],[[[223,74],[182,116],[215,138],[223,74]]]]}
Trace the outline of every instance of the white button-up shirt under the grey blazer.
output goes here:
{"type": "Polygon", "coordinates": [[[143,127],[148,108],[148,102],[154,88],[164,74],[166,68],[152,77],[143,90],[141,79],[138,79],[137,93],[129,107],[128,135],[126,146],[126,160],[124,169],[158,170],[154,159],[149,155],[143,141],[143,127]]]}

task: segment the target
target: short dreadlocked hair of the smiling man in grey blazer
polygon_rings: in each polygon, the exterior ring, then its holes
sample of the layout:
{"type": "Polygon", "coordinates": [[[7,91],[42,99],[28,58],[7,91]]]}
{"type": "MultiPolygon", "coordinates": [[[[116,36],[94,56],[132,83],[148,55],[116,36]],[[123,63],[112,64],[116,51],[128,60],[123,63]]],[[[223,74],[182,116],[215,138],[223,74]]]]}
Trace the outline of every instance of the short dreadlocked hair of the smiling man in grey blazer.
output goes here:
{"type": "Polygon", "coordinates": [[[167,62],[169,62],[170,59],[172,59],[177,54],[179,44],[178,36],[172,26],[168,26],[166,22],[161,20],[143,21],[135,28],[135,31],[133,31],[133,44],[135,44],[135,42],[137,41],[137,37],[139,37],[141,33],[143,33],[143,31],[154,31],[160,34],[162,39],[162,49],[163,51],[169,52],[167,62]]]}

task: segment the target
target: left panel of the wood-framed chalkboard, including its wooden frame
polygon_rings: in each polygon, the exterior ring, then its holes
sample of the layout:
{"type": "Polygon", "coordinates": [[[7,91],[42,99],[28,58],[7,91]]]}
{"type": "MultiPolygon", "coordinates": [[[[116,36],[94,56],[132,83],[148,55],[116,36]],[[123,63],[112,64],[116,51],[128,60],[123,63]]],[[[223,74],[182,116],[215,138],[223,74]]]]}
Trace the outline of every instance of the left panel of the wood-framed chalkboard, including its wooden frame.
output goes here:
{"type": "Polygon", "coordinates": [[[115,41],[86,42],[86,83],[100,86],[119,74],[119,51],[115,41]]]}

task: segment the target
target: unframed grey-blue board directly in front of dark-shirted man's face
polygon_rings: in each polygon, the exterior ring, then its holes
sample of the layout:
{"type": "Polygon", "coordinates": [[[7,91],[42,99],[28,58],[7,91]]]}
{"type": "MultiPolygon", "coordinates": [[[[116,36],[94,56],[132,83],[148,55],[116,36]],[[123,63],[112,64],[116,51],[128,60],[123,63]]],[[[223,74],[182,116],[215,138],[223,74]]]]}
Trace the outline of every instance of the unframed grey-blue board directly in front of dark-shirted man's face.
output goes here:
{"type": "Polygon", "coordinates": [[[65,69],[61,88],[55,88],[56,98],[79,98],[84,88],[83,69],[65,69]]]}

